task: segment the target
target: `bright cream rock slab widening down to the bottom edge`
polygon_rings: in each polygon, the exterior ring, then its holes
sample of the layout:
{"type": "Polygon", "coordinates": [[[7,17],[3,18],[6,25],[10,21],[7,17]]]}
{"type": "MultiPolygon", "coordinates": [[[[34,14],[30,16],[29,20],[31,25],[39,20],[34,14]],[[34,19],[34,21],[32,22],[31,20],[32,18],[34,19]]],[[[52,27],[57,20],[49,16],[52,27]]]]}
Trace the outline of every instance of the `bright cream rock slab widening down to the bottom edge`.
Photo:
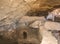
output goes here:
{"type": "Polygon", "coordinates": [[[58,44],[57,39],[52,35],[52,33],[45,29],[44,26],[40,26],[40,32],[43,36],[41,44],[58,44]]]}

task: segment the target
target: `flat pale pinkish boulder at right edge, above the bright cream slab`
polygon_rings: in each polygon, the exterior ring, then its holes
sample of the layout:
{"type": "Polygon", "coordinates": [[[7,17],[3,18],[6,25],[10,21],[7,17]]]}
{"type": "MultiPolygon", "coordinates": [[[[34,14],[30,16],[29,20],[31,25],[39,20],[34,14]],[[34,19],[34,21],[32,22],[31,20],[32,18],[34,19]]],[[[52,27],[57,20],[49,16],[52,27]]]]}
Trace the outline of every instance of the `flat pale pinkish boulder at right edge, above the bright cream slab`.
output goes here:
{"type": "Polygon", "coordinates": [[[47,30],[60,30],[60,23],[57,22],[47,21],[44,26],[47,30]]]}

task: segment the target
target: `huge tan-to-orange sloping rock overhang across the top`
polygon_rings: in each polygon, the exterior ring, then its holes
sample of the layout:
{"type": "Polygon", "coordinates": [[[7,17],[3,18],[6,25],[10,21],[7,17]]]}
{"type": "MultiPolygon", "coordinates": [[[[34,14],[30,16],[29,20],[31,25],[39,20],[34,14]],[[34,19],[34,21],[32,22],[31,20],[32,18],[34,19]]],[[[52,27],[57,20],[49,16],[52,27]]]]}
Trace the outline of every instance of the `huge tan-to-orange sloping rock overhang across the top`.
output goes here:
{"type": "Polygon", "coordinates": [[[0,0],[0,22],[11,24],[20,19],[28,11],[46,10],[48,7],[60,5],[60,0],[0,0]]]}

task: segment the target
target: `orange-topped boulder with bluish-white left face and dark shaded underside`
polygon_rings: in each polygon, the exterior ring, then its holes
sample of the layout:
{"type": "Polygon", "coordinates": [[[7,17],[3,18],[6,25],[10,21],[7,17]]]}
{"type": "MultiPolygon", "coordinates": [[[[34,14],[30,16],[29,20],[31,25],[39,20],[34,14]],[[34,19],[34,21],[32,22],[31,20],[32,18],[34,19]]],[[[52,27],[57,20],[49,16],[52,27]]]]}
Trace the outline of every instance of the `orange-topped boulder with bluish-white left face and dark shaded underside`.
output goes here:
{"type": "Polygon", "coordinates": [[[60,22],[60,8],[57,8],[53,10],[52,12],[49,12],[47,19],[55,21],[55,22],[60,22]]]}

